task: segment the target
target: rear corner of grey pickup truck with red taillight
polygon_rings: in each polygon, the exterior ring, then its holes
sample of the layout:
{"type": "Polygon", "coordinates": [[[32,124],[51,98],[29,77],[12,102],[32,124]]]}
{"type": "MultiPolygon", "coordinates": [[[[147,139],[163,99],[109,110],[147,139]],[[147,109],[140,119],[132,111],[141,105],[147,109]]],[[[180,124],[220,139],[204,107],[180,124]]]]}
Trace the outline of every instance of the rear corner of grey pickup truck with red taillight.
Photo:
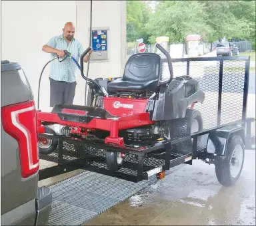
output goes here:
{"type": "Polygon", "coordinates": [[[38,187],[33,92],[18,63],[1,61],[1,225],[47,225],[52,195],[38,187]]]}

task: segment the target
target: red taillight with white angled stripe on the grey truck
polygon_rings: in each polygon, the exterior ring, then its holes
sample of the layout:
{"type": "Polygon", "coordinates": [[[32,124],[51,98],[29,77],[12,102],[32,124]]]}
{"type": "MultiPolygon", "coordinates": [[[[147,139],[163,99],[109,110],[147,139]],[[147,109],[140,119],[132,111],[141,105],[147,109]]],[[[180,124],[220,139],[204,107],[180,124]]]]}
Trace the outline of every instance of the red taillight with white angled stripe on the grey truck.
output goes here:
{"type": "Polygon", "coordinates": [[[3,129],[19,144],[21,175],[29,177],[39,169],[35,103],[21,102],[1,109],[3,129]]]}

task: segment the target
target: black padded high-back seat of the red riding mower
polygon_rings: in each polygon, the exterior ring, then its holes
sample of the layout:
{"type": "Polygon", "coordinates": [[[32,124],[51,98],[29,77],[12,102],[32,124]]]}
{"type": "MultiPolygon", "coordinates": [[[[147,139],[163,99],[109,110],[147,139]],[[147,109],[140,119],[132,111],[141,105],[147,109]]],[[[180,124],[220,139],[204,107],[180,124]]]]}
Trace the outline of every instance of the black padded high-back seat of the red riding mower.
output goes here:
{"type": "Polygon", "coordinates": [[[137,53],[125,65],[123,78],[107,85],[108,92],[154,92],[159,84],[161,57],[156,53],[137,53]]]}

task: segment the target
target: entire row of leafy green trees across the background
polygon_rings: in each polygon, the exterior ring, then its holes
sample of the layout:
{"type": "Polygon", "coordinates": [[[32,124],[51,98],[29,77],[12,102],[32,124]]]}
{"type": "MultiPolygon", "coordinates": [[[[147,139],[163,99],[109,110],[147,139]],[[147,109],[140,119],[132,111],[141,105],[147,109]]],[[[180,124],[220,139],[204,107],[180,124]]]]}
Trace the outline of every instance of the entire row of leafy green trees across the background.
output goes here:
{"type": "MultiPolygon", "coordinates": [[[[127,1],[127,41],[167,36],[181,43],[189,34],[203,40],[226,37],[251,40],[255,46],[255,1],[127,1]],[[149,5],[155,4],[155,13],[149,5]]],[[[254,47],[255,48],[255,47],[254,47]]]]}

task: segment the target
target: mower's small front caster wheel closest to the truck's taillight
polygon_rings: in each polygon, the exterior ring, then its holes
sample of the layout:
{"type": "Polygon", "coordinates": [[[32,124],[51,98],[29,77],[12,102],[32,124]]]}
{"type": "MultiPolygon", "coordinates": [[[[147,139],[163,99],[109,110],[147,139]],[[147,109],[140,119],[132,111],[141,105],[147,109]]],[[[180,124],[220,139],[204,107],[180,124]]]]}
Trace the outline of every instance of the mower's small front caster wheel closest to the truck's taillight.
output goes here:
{"type": "MultiPolygon", "coordinates": [[[[45,134],[57,135],[54,130],[45,126],[45,134]]],[[[47,138],[39,138],[39,153],[49,155],[54,152],[58,146],[58,140],[51,140],[47,138]]]]}

